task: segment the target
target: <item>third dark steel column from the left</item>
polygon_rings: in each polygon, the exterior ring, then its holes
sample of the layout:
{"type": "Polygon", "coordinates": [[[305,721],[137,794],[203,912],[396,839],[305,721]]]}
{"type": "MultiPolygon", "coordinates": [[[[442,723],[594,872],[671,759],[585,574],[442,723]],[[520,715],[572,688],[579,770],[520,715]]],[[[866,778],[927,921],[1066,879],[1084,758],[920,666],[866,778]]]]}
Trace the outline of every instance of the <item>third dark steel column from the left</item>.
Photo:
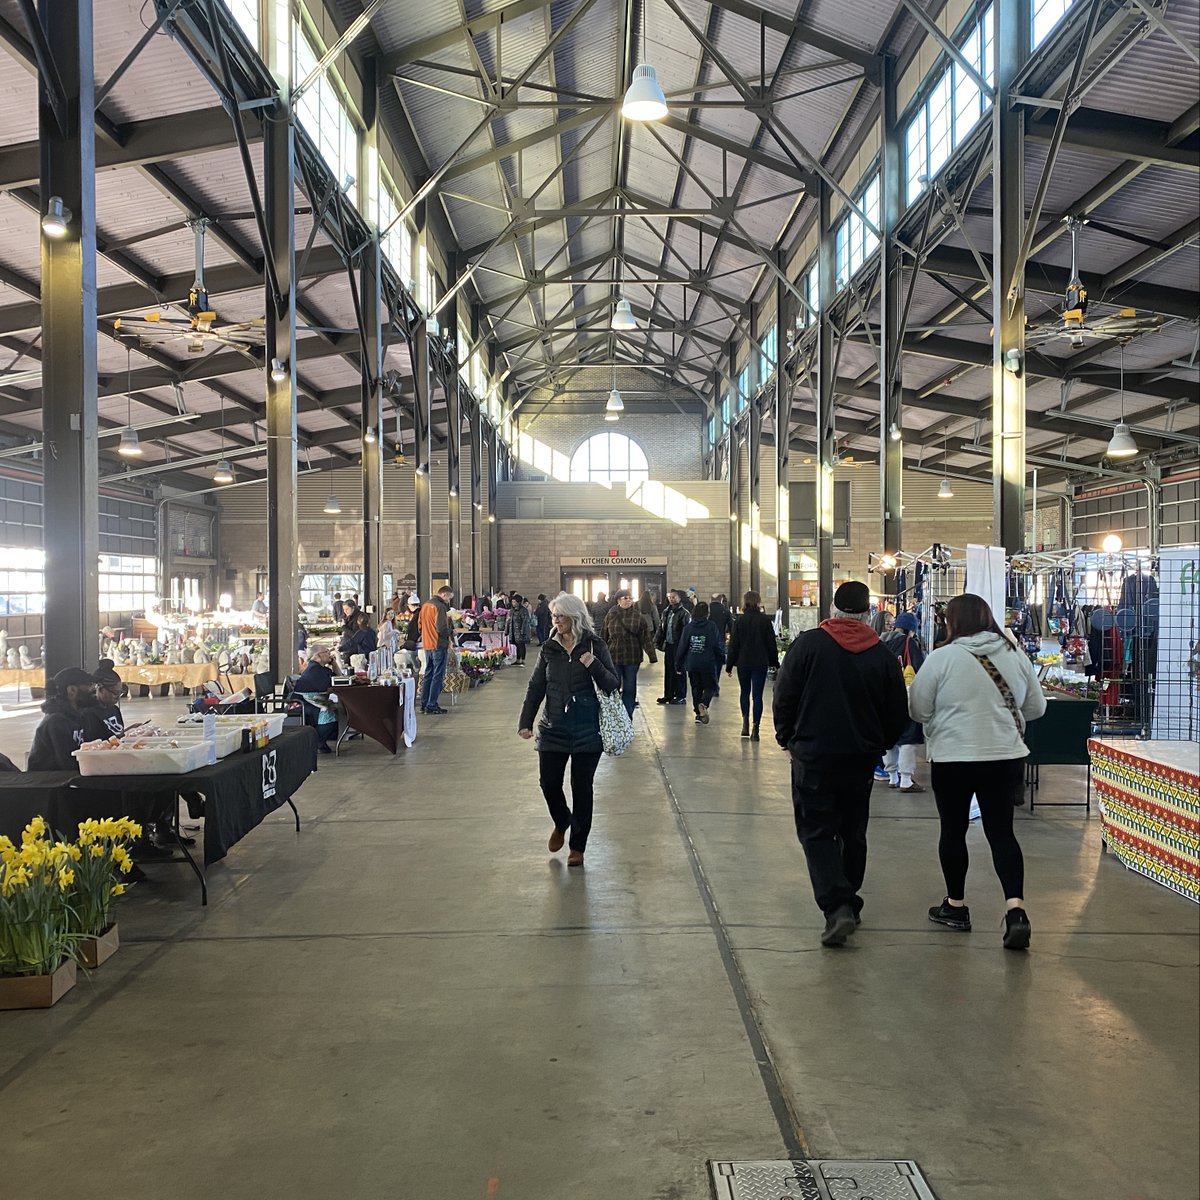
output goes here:
{"type": "MultiPolygon", "coordinates": [[[[362,595],[382,614],[383,582],[383,290],[379,234],[362,251],[359,294],[366,338],[362,355],[362,595]]],[[[396,581],[392,580],[395,587],[396,581]]]]}

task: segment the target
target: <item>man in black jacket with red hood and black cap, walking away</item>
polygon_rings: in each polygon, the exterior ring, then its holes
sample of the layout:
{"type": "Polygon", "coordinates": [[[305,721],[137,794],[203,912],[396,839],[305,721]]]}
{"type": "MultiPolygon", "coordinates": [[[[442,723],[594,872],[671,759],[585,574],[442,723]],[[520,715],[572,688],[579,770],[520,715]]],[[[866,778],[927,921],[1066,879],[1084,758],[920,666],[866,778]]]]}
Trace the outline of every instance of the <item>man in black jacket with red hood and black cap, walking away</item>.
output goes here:
{"type": "Polygon", "coordinates": [[[865,583],[844,583],[830,619],[792,642],[775,677],[775,740],[792,760],[823,946],[844,946],[859,923],[875,763],[908,725],[904,674],[865,624],[870,606],[865,583]]]}

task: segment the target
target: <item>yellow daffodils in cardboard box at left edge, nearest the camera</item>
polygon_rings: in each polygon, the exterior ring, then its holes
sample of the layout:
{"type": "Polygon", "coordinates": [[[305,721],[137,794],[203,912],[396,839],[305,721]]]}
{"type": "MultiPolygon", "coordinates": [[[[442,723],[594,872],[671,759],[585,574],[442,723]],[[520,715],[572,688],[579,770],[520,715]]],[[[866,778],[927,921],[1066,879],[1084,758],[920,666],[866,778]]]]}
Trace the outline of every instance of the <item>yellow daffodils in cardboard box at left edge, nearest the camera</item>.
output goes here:
{"type": "Polygon", "coordinates": [[[49,1008],[74,986],[79,936],[66,893],[80,853],[50,841],[42,817],[19,848],[0,836],[0,1009],[49,1008]]]}

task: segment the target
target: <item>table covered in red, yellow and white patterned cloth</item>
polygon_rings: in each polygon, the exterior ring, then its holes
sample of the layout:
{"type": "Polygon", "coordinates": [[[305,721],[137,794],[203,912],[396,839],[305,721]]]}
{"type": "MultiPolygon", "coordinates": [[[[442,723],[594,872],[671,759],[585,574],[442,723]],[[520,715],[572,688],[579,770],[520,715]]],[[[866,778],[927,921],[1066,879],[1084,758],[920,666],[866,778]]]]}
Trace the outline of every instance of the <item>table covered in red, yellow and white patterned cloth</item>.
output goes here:
{"type": "Polygon", "coordinates": [[[1108,848],[1200,902],[1200,743],[1092,738],[1087,746],[1108,848]]]}

